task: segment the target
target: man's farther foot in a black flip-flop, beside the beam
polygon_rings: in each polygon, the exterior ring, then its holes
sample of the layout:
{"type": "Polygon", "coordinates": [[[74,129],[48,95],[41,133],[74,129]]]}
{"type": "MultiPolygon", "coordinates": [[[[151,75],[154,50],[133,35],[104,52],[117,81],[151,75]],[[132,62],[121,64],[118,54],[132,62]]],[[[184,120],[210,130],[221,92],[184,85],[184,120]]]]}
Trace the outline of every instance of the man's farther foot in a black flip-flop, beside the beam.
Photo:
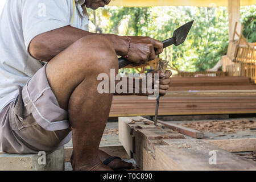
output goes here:
{"type": "MultiPolygon", "coordinates": [[[[111,156],[109,154],[107,154],[106,152],[102,151],[102,150],[98,150],[98,157],[100,158],[101,162],[104,162],[106,159],[110,158],[111,156]]],[[[113,170],[133,168],[132,163],[124,162],[119,158],[116,158],[116,159],[112,160],[112,162],[110,162],[108,164],[108,166],[110,168],[112,168],[113,170]]]]}

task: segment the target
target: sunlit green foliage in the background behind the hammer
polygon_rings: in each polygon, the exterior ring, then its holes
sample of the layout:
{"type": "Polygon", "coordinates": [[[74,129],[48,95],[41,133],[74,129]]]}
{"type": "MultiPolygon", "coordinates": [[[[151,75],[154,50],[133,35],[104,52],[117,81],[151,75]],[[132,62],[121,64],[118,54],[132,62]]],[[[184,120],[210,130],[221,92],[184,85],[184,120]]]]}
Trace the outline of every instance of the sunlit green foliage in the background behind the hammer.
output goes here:
{"type": "MultiPolygon", "coordinates": [[[[195,20],[185,43],[164,49],[160,55],[181,71],[212,68],[228,49],[226,7],[105,7],[96,12],[97,26],[104,33],[150,36],[158,40],[171,38],[176,28],[195,20]]],[[[255,5],[242,7],[241,13],[245,24],[243,33],[255,42],[255,5]]],[[[92,17],[91,20],[94,22],[92,17]]]]}

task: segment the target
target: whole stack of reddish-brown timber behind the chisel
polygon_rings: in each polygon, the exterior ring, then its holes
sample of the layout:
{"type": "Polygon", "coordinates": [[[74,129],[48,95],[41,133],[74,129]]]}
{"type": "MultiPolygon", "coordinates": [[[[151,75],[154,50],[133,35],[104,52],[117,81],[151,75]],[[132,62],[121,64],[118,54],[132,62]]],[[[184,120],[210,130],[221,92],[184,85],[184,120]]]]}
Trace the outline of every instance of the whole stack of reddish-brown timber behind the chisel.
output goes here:
{"type": "MultiPolygon", "coordinates": [[[[155,100],[114,96],[110,117],[155,115],[155,100]]],[[[256,85],[247,77],[174,77],[159,115],[256,113],[256,85]]]]}

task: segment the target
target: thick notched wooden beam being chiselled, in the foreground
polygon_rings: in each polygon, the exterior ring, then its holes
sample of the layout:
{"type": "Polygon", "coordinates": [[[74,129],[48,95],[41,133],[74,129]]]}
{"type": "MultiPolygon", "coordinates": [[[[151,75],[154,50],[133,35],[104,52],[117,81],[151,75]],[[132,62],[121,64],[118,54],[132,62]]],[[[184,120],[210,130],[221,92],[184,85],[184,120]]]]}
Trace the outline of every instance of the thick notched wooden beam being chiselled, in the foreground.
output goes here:
{"type": "Polygon", "coordinates": [[[121,127],[126,128],[122,130],[125,133],[119,132],[121,143],[142,170],[256,170],[256,164],[249,159],[199,139],[185,139],[142,117],[119,118],[119,130],[121,127]],[[216,165],[209,164],[211,152],[216,152],[216,165]]]}

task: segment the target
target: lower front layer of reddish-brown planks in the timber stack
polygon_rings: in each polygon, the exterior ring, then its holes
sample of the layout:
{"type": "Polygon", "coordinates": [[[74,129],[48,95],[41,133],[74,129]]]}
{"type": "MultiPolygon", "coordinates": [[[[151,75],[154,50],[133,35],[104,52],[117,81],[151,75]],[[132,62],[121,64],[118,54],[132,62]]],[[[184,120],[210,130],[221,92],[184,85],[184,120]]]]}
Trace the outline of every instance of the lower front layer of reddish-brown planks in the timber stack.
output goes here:
{"type": "MultiPolygon", "coordinates": [[[[168,92],[161,98],[159,115],[256,113],[256,90],[239,91],[168,92]]],[[[147,97],[115,96],[110,117],[155,115],[155,102],[147,97]]]]}

